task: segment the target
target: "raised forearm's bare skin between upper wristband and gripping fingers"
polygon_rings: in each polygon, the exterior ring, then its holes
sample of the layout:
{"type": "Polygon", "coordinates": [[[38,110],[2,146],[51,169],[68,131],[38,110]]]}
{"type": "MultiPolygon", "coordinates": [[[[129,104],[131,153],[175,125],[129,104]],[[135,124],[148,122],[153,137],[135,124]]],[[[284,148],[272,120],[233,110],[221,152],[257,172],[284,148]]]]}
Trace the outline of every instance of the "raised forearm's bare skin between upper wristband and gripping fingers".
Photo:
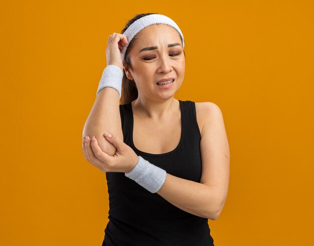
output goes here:
{"type": "Polygon", "coordinates": [[[83,128],[83,137],[95,136],[102,151],[114,155],[116,148],[103,134],[109,132],[123,141],[119,111],[119,94],[111,87],[102,89],[95,100],[83,128]]]}

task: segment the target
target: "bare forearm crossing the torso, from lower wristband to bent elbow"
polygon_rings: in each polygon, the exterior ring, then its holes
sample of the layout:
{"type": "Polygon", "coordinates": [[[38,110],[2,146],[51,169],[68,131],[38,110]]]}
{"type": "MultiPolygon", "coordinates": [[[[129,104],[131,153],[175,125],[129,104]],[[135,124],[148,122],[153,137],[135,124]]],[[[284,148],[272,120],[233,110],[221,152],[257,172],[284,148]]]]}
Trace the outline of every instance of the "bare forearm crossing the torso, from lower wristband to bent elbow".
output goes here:
{"type": "Polygon", "coordinates": [[[220,196],[214,188],[169,173],[157,193],[176,207],[200,217],[216,219],[221,209],[220,196]]]}

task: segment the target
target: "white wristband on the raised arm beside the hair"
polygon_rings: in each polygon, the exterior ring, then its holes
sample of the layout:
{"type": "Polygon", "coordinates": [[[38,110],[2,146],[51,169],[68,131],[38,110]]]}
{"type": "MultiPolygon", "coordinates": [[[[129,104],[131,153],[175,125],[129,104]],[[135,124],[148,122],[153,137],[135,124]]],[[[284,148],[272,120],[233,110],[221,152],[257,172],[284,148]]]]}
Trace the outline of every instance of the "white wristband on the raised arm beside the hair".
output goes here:
{"type": "Polygon", "coordinates": [[[103,88],[111,87],[119,93],[119,98],[121,98],[122,78],[123,72],[118,66],[108,65],[102,72],[96,96],[103,88]]]}

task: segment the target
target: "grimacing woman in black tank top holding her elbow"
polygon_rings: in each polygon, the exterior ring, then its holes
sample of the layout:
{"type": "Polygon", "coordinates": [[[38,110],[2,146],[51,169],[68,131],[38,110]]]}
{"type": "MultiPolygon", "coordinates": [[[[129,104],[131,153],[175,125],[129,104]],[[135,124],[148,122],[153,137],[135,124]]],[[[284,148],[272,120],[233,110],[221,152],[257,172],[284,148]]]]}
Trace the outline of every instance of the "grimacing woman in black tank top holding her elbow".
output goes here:
{"type": "Polygon", "coordinates": [[[109,36],[106,56],[83,130],[84,155],[107,178],[102,245],[214,245],[208,218],[225,204],[229,145],[216,104],[174,98],[181,30],[169,17],[136,15],[109,36]]]}

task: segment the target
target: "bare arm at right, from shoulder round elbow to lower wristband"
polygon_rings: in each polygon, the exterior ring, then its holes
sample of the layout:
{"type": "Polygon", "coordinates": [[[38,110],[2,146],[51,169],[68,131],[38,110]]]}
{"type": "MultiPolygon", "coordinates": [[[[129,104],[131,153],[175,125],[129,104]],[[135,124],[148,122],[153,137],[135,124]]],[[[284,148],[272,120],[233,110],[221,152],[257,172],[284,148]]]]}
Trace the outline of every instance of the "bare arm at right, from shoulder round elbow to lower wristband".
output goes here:
{"type": "Polygon", "coordinates": [[[186,212],[215,220],[227,198],[230,150],[220,108],[211,102],[202,104],[206,119],[200,142],[200,183],[167,173],[166,180],[157,193],[186,212]]]}

